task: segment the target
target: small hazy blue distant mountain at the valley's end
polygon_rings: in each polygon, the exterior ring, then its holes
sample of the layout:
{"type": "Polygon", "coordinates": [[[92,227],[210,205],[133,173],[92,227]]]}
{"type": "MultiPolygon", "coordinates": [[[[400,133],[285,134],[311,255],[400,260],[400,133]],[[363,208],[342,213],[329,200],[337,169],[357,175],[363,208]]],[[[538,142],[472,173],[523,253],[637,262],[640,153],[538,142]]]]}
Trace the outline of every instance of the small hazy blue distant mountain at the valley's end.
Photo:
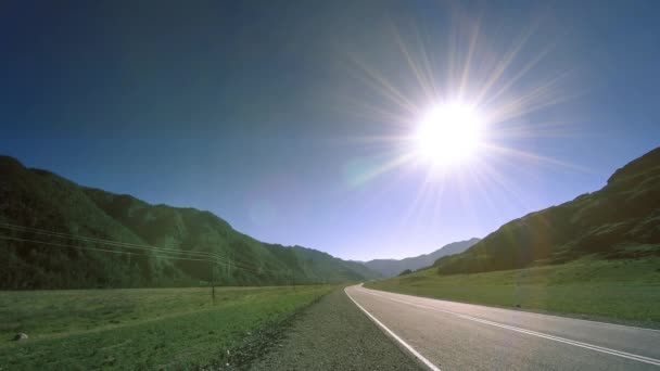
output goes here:
{"type": "Polygon", "coordinates": [[[419,268],[432,266],[435,260],[443,256],[458,254],[465,252],[468,247],[479,242],[479,239],[470,239],[467,241],[454,242],[447,244],[430,254],[409,257],[401,260],[396,259],[376,259],[364,261],[363,264],[385,278],[394,277],[406,269],[417,270],[419,268]]]}

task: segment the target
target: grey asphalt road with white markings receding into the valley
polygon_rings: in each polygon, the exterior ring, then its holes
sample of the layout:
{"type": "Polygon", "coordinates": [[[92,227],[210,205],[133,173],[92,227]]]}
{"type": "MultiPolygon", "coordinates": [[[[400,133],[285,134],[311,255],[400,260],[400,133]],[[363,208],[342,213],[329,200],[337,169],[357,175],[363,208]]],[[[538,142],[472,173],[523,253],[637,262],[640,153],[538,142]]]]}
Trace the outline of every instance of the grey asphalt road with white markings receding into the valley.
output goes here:
{"type": "Polygon", "coordinates": [[[358,307],[429,369],[660,370],[660,331],[351,286],[358,307]]]}

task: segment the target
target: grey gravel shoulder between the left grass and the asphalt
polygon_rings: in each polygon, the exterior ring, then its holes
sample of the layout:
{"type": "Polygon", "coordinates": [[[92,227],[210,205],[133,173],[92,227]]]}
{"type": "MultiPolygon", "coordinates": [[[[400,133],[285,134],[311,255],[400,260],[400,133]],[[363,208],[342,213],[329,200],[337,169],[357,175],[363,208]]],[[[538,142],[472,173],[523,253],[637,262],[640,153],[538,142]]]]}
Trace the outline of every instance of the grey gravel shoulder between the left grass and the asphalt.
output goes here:
{"type": "Polygon", "coordinates": [[[251,370],[420,370],[337,290],[307,308],[251,370]]]}

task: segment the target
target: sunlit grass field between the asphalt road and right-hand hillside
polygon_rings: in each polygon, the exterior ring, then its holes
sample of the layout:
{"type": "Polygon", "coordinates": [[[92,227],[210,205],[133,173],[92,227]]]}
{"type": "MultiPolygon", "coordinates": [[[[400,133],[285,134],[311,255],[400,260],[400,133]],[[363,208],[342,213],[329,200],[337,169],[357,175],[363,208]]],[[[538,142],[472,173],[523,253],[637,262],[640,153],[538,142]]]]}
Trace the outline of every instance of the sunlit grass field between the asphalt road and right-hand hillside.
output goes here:
{"type": "Polygon", "coordinates": [[[439,276],[428,269],[366,287],[660,328],[660,259],[583,258],[555,266],[439,276]]]}

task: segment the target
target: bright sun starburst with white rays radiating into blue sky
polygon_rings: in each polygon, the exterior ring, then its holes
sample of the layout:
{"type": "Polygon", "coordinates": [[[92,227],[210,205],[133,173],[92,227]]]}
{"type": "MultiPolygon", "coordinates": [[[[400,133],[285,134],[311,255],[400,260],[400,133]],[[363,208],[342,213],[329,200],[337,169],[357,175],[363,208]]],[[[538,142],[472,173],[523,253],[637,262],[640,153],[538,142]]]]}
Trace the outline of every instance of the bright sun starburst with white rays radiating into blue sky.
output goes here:
{"type": "Polygon", "coordinates": [[[455,184],[512,193],[515,182],[499,171],[505,166],[575,168],[533,152],[525,142],[571,132],[561,113],[542,112],[574,94],[568,90],[570,73],[540,68],[558,43],[531,53],[524,49],[533,43],[536,25],[503,43],[482,30],[480,17],[455,12],[446,40],[427,39],[416,26],[394,29],[401,60],[389,62],[399,62],[398,69],[380,71],[367,62],[369,55],[351,54],[357,81],[378,93],[378,100],[351,99],[358,103],[355,113],[382,125],[376,135],[357,138],[379,152],[346,166],[353,187],[408,167],[423,177],[415,208],[433,205],[455,184]]]}

